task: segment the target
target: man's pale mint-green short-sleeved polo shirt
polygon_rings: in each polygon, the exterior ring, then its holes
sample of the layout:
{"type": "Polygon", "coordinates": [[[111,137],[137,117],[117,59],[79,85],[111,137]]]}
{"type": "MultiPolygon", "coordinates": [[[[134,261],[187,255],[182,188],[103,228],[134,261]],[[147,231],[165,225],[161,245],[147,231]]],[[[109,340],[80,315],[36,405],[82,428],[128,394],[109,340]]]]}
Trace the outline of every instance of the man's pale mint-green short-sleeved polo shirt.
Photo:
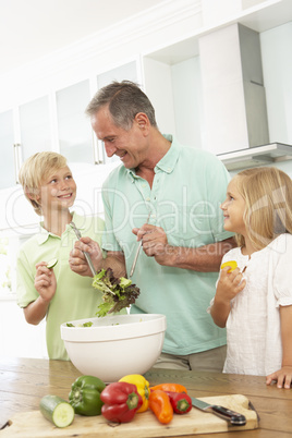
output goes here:
{"type": "MultiPolygon", "coordinates": [[[[224,166],[207,151],[181,146],[174,138],[155,167],[150,188],[133,169],[114,169],[102,187],[106,232],[102,247],[123,251],[130,272],[137,248],[134,227],[161,227],[174,246],[199,247],[232,234],[223,230],[219,208],[230,180],[224,166]]],[[[141,251],[133,282],[141,295],[131,313],[165,314],[167,332],[163,352],[192,354],[226,343],[226,330],[218,328],[206,309],[215,294],[218,272],[160,266],[141,251]]]]}

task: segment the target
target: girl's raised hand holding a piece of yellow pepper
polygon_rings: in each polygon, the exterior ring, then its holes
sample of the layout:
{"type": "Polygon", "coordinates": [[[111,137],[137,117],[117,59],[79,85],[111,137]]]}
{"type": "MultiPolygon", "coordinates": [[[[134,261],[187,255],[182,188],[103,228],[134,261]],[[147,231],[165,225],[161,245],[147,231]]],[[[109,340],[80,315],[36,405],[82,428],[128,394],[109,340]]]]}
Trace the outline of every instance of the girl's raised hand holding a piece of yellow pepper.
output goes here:
{"type": "Polygon", "coordinates": [[[228,273],[228,266],[221,270],[217,283],[216,299],[222,302],[230,302],[246,284],[246,280],[239,268],[235,268],[230,273],[228,273]]]}

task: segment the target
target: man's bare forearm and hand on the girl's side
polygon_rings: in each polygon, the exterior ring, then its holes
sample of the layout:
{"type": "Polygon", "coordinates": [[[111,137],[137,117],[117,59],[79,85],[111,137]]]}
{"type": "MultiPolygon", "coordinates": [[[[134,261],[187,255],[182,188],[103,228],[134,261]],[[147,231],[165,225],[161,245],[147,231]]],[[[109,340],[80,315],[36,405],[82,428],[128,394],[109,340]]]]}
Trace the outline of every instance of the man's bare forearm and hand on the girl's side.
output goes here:
{"type": "Polygon", "coordinates": [[[145,254],[155,257],[159,265],[199,272],[218,271],[223,255],[236,246],[233,238],[196,248],[172,246],[169,245],[162,228],[149,224],[134,229],[133,232],[137,235],[138,241],[142,240],[145,254]]]}

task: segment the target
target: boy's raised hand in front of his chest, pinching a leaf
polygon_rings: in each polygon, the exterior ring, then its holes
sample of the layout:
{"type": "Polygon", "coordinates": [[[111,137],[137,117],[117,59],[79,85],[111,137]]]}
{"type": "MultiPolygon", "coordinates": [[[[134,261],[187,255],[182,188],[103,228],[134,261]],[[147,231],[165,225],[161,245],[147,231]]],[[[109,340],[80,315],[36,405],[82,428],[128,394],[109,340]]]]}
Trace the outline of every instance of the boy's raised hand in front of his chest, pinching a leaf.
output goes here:
{"type": "Polygon", "coordinates": [[[57,289],[53,269],[48,269],[46,261],[36,265],[35,288],[45,302],[50,302],[57,289]]]}

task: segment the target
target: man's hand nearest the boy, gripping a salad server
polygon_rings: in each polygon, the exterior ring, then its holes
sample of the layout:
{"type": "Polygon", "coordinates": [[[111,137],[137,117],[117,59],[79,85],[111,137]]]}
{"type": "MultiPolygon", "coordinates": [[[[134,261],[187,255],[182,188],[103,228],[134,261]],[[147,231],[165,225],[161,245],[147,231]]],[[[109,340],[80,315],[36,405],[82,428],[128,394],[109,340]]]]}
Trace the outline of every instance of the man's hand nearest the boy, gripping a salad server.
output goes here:
{"type": "Polygon", "coordinates": [[[97,242],[90,238],[81,238],[76,241],[74,248],[70,252],[69,265],[73,272],[83,277],[93,277],[90,268],[84,256],[84,252],[87,252],[93,260],[96,271],[101,269],[102,251],[97,242]]]}

